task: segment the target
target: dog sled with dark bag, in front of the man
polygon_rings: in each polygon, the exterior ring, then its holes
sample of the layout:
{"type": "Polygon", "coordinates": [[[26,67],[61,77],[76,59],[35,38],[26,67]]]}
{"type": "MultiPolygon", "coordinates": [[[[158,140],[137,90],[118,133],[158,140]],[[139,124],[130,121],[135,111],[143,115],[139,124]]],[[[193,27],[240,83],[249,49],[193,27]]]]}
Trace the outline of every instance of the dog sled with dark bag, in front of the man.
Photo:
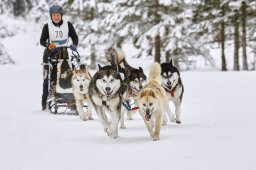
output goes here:
{"type": "Polygon", "coordinates": [[[79,66],[80,55],[77,51],[72,51],[72,55],[69,60],[68,54],[63,55],[60,53],[63,53],[61,49],[57,54],[53,56],[50,54],[48,57],[49,62],[47,65],[49,66],[49,71],[47,106],[49,111],[54,114],[67,113],[77,115],[76,102],[72,89],[72,75],[74,68],[79,66]],[[53,64],[57,65],[56,83],[51,80],[53,64]]]}

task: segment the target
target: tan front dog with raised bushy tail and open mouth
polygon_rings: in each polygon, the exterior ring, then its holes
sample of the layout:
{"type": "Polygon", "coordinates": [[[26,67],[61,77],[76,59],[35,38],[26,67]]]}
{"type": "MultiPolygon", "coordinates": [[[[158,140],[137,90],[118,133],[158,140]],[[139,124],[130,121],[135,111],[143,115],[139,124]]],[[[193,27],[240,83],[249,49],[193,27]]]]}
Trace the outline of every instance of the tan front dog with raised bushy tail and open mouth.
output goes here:
{"type": "Polygon", "coordinates": [[[136,99],[142,116],[153,141],[160,139],[160,129],[167,111],[167,96],[161,86],[161,66],[155,62],[149,71],[149,82],[139,92],[136,99]]]}

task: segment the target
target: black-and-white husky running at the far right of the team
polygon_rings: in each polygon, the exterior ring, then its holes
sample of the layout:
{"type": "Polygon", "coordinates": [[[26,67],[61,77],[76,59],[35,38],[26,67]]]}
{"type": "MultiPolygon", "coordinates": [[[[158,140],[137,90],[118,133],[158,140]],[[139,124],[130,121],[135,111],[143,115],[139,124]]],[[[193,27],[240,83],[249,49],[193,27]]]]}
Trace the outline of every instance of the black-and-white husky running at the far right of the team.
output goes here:
{"type": "Polygon", "coordinates": [[[170,61],[170,63],[162,63],[161,68],[162,86],[166,91],[168,100],[173,101],[175,105],[175,116],[171,112],[170,107],[168,105],[167,113],[170,122],[176,121],[176,123],[180,124],[180,106],[184,93],[184,86],[181,82],[180,72],[175,66],[173,66],[172,60],[170,61]]]}

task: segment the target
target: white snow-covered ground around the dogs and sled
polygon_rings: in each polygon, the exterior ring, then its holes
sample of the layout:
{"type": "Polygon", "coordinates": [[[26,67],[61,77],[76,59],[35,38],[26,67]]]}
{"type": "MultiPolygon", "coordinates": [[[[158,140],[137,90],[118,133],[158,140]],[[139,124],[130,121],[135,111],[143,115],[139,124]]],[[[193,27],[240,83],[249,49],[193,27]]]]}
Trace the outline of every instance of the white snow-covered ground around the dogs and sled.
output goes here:
{"type": "MultiPolygon", "coordinates": [[[[182,72],[182,124],[168,123],[150,139],[137,114],[113,140],[97,115],[40,111],[41,30],[5,44],[17,65],[0,67],[0,169],[3,170],[254,170],[256,72],[182,72]]],[[[130,59],[147,72],[151,61],[130,59]]]]}

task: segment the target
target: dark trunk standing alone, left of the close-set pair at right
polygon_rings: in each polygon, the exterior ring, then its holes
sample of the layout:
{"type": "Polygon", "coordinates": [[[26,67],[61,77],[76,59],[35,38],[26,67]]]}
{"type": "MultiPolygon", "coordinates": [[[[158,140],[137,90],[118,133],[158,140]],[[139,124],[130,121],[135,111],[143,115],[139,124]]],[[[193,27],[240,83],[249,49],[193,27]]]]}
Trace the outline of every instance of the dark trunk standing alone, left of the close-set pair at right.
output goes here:
{"type": "MultiPolygon", "coordinates": [[[[222,15],[225,15],[225,6],[222,6],[222,15]]],[[[225,22],[221,22],[220,30],[221,39],[221,71],[227,71],[226,57],[225,57],[225,22]]]]}

